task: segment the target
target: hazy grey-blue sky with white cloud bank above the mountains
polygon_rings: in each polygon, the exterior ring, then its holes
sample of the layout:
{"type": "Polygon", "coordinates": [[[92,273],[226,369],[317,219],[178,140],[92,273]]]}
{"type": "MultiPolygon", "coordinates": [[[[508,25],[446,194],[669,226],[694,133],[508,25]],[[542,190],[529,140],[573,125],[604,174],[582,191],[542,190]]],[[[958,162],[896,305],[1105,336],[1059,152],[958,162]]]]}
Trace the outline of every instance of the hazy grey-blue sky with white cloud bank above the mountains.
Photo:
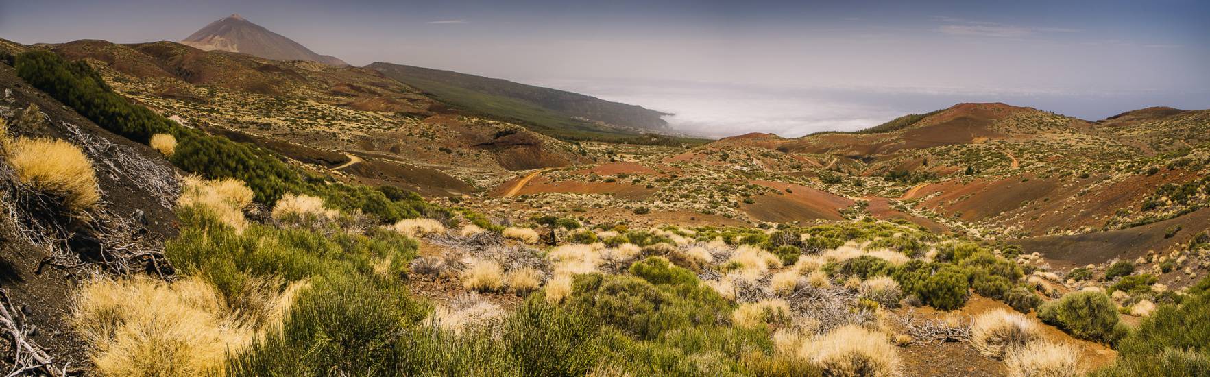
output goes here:
{"type": "Polygon", "coordinates": [[[18,42],[180,40],[238,12],[391,62],[676,112],[710,134],[855,129],[957,102],[1083,118],[1210,108],[1210,1],[12,1],[18,42]]]}

